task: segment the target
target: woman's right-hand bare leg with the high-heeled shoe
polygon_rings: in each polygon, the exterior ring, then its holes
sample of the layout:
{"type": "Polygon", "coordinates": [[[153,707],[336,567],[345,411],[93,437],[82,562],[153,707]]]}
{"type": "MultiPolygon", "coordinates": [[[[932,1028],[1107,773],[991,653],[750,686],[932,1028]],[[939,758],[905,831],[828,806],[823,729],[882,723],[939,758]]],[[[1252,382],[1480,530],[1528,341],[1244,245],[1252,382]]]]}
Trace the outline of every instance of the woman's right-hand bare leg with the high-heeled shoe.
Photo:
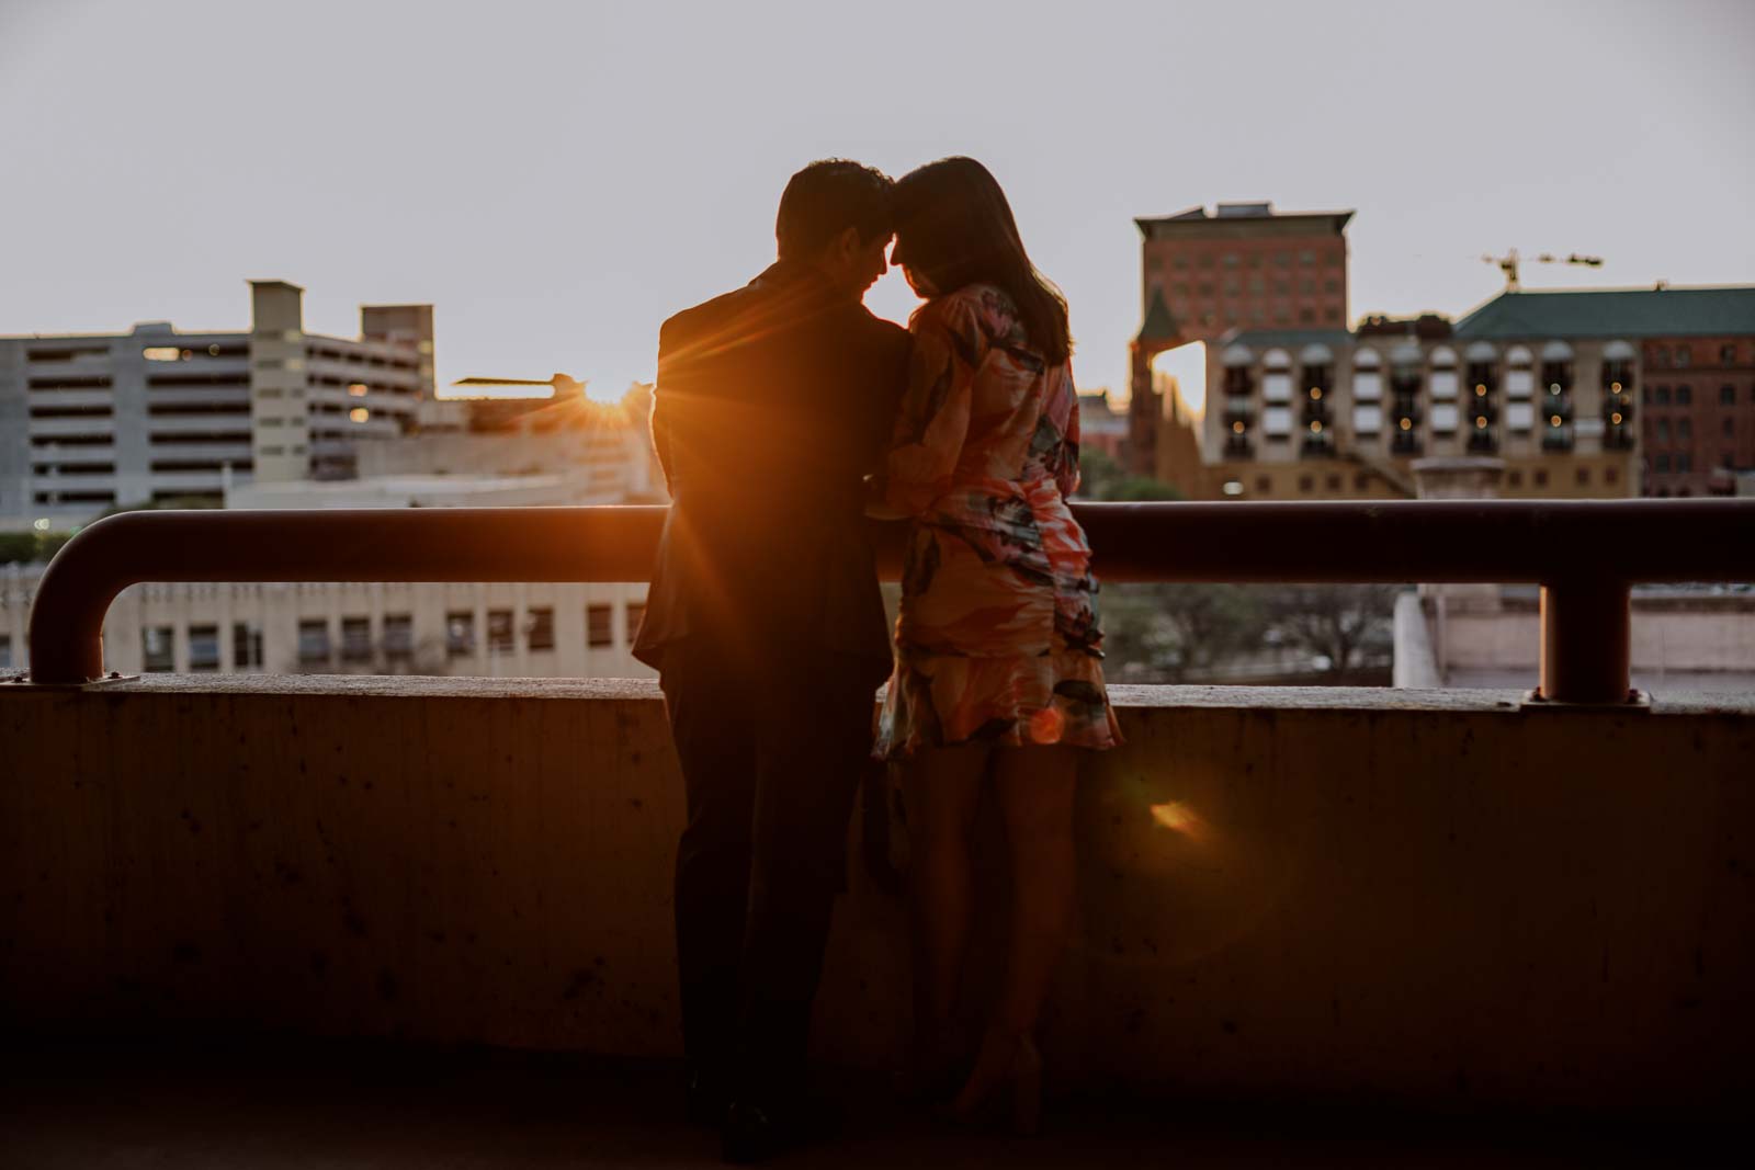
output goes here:
{"type": "Polygon", "coordinates": [[[1011,853],[1011,940],[976,1068],[953,1109],[974,1109],[1007,1075],[1030,1077],[1018,1096],[1020,1128],[1034,1128],[1035,1103],[1025,1098],[1035,1091],[1035,1024],[1072,921],[1078,768],[1071,747],[1002,747],[993,760],[1011,853]]]}

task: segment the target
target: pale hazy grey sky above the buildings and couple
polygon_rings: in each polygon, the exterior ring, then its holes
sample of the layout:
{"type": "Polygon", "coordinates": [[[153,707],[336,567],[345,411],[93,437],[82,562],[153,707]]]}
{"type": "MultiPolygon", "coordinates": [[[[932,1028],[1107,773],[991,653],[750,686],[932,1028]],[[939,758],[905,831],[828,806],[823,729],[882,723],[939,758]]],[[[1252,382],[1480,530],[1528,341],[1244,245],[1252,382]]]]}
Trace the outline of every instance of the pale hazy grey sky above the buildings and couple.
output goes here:
{"type": "MultiPolygon", "coordinates": [[[[786,177],[972,154],[1125,388],[1134,216],[1357,209],[1351,309],[1755,282],[1755,4],[0,0],[0,333],[432,302],[439,375],[595,393],[774,251],[786,177]]],[[[906,319],[899,275],[869,298],[906,319]]]]}

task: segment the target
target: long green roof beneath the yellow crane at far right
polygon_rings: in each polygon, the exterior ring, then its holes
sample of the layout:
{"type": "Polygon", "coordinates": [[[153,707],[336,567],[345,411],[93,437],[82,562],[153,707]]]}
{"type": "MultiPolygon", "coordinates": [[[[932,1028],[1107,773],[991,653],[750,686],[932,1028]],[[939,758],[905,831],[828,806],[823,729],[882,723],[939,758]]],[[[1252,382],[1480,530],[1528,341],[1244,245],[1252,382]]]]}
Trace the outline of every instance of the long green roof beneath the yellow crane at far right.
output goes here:
{"type": "Polygon", "coordinates": [[[1755,286],[1506,291],[1457,337],[1727,337],[1755,333],[1755,286]]]}

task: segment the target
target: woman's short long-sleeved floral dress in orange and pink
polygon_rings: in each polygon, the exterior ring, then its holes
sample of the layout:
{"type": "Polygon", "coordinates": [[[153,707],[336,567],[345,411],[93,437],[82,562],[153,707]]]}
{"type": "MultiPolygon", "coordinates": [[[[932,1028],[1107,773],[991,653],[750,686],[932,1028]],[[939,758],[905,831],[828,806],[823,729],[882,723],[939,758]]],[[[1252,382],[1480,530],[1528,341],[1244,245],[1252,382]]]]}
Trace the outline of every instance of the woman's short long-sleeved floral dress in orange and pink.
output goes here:
{"type": "Polygon", "coordinates": [[[885,502],[914,517],[876,754],[963,742],[1121,742],[1102,679],[1067,363],[1030,349],[1011,298],[927,302],[885,502]]]}

